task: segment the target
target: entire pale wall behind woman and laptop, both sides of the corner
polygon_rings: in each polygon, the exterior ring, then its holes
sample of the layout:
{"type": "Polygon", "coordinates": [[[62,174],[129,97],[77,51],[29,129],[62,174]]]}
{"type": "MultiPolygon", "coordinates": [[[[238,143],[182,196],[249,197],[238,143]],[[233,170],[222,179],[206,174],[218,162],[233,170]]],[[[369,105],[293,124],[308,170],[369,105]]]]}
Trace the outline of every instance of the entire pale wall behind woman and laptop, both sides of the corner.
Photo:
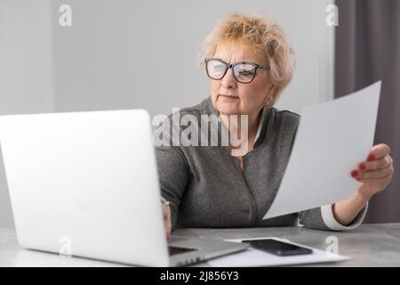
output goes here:
{"type": "MultiPolygon", "coordinates": [[[[330,3],[0,0],[0,112],[145,108],[156,115],[194,105],[208,96],[198,46],[228,12],[269,15],[283,26],[297,69],[276,107],[300,112],[332,99],[330,3]],[[58,24],[60,4],[72,6],[72,27],[58,24]]],[[[10,225],[0,168],[0,227],[10,225]]]]}

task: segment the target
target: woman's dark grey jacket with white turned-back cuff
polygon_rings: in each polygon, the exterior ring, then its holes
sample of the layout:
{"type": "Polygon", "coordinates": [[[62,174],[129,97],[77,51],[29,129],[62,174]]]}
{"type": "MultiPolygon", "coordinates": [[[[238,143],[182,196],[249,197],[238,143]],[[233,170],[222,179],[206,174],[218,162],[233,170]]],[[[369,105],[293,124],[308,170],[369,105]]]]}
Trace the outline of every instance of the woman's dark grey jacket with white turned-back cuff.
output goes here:
{"type": "MultiPolygon", "coordinates": [[[[300,222],[313,229],[347,230],[361,224],[366,209],[345,227],[334,219],[331,205],[262,220],[276,197],[300,119],[288,110],[262,111],[260,134],[253,151],[243,157],[243,171],[228,147],[172,146],[171,136],[164,135],[165,145],[156,147],[156,159],[162,196],[170,201],[172,229],[293,226],[300,222]]],[[[185,114],[199,121],[201,115],[219,115],[211,97],[180,110],[180,118],[185,114]]],[[[172,115],[167,120],[168,124],[157,128],[156,135],[161,130],[171,135],[165,130],[168,126],[180,132],[186,128],[177,126],[172,115]]]]}

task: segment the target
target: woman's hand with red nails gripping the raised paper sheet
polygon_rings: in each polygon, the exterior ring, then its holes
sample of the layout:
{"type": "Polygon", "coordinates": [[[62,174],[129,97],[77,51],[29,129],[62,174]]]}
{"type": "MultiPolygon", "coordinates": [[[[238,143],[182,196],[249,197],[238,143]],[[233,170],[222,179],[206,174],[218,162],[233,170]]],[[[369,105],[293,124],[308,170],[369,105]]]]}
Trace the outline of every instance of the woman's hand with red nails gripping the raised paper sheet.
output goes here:
{"type": "Polygon", "coordinates": [[[351,176],[363,183],[358,191],[367,197],[378,193],[388,186],[395,173],[393,159],[389,156],[390,148],[385,143],[372,146],[368,158],[358,164],[358,169],[351,176]]]}

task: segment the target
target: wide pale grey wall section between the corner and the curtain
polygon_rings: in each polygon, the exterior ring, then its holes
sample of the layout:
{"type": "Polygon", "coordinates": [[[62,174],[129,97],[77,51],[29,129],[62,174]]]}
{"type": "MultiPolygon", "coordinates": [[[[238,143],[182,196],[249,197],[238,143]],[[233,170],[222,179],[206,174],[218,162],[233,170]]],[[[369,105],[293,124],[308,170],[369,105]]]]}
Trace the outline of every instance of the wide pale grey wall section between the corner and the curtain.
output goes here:
{"type": "MultiPolygon", "coordinates": [[[[228,12],[270,15],[297,53],[297,71],[278,108],[300,111],[332,98],[332,1],[68,1],[73,27],[54,26],[57,110],[145,108],[170,113],[208,95],[198,46],[228,12]]],[[[57,11],[66,1],[53,1],[57,11]]],[[[58,14],[55,14],[58,17],[58,14]]],[[[56,22],[57,19],[53,19],[56,22]]]]}

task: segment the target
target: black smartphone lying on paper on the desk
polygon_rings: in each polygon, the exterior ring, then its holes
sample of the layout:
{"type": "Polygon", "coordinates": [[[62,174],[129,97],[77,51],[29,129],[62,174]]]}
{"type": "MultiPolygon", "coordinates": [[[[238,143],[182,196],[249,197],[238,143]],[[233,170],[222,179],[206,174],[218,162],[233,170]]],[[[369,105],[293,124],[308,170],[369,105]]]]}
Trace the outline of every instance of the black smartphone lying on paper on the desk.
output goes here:
{"type": "Polygon", "coordinates": [[[293,245],[292,243],[273,239],[243,240],[242,242],[250,243],[253,248],[267,251],[276,256],[308,255],[313,252],[313,250],[309,248],[303,248],[293,245]]]}

